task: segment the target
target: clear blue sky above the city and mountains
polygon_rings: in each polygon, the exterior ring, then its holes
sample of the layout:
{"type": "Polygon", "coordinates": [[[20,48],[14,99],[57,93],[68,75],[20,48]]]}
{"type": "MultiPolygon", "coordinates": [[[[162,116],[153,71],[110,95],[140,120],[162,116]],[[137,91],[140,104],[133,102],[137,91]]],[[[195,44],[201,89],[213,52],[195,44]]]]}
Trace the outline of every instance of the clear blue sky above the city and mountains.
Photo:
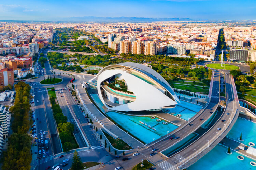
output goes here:
{"type": "Polygon", "coordinates": [[[57,17],[256,20],[256,0],[1,0],[0,20],[57,17]]]}

